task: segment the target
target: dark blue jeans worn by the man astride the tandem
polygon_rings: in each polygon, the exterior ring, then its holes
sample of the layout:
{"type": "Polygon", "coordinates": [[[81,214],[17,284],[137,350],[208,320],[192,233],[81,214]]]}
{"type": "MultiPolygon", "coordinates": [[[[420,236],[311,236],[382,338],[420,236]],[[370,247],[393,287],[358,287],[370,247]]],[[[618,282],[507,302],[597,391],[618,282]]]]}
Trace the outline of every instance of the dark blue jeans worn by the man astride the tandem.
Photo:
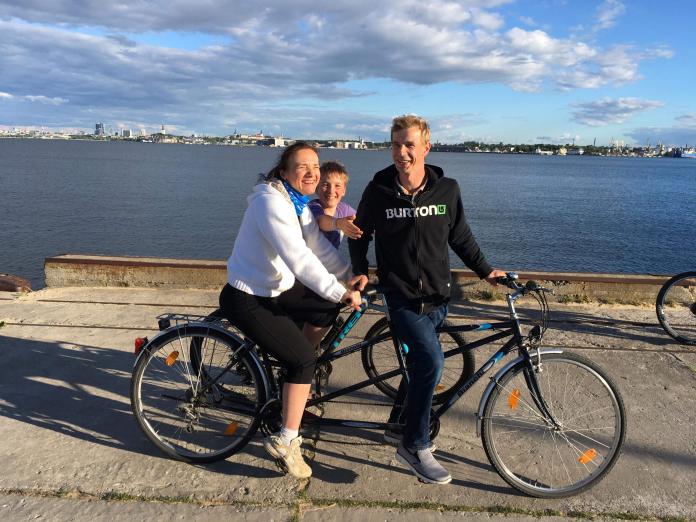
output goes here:
{"type": "Polygon", "coordinates": [[[410,450],[426,449],[430,445],[433,393],[445,364],[435,329],[445,320],[447,305],[421,314],[417,305],[400,295],[387,296],[387,305],[394,333],[408,346],[406,369],[409,377],[408,387],[403,382],[399,386],[389,422],[398,422],[399,417],[405,417],[402,444],[410,450]],[[401,415],[400,404],[404,395],[406,404],[401,415]]]}

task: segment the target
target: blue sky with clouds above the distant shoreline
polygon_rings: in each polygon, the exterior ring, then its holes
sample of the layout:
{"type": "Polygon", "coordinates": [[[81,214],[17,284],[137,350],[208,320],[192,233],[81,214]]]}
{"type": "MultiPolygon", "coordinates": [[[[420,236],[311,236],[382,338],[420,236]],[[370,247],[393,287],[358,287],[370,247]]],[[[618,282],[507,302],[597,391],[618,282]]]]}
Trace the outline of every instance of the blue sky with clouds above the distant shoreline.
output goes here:
{"type": "Polygon", "coordinates": [[[0,129],[696,145],[693,3],[0,0],[0,129]]]}

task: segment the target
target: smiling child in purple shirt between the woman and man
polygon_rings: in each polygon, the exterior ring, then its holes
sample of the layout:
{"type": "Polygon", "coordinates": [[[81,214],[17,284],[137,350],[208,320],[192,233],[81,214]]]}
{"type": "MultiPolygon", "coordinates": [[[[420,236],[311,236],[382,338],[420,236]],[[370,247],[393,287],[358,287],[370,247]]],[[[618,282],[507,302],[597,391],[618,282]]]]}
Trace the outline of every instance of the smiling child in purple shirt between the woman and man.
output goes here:
{"type": "Polygon", "coordinates": [[[345,234],[358,239],[362,231],[353,224],[355,210],[341,201],[346,195],[348,171],[337,161],[325,161],[321,165],[321,178],[317,187],[318,199],[309,202],[309,208],[319,223],[326,239],[338,248],[345,234]]]}

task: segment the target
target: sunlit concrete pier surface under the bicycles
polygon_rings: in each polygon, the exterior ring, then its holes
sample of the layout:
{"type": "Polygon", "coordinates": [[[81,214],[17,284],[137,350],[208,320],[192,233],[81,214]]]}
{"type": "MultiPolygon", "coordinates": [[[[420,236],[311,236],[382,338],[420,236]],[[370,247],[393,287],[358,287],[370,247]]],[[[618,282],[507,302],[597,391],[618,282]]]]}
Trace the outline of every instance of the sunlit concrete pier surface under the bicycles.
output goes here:
{"type": "MultiPolygon", "coordinates": [[[[323,430],[306,443],[308,481],[281,474],[258,436],[215,464],[168,459],[130,411],[133,340],[154,334],[160,313],[208,313],[217,293],[106,284],[0,293],[2,520],[696,519],[696,352],[662,332],[651,305],[551,306],[545,344],[607,370],[626,403],[628,432],[616,467],[597,487],[539,500],[498,477],[476,436],[487,379],[444,418],[436,455],[454,477],[446,486],[418,482],[380,433],[357,428],[323,430]]],[[[523,317],[533,312],[533,302],[520,302],[523,317]]],[[[504,305],[488,298],[455,300],[450,314],[455,323],[504,316],[504,305]]],[[[368,314],[344,342],[362,338],[377,318],[368,314]]],[[[334,364],[330,385],[362,378],[353,354],[334,364]]],[[[388,408],[368,388],[325,414],[381,419],[388,408]]]]}

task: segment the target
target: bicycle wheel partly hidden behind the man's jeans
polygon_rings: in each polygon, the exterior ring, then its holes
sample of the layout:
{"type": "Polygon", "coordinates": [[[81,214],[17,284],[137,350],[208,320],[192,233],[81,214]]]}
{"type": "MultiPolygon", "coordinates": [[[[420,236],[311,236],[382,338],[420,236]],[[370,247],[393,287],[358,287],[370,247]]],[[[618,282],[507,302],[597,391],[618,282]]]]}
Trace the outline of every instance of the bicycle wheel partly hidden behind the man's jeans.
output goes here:
{"type": "MultiPolygon", "coordinates": [[[[451,326],[448,321],[443,322],[443,326],[451,326]]],[[[376,338],[384,334],[389,329],[389,322],[386,317],[377,321],[365,334],[365,340],[376,338]]],[[[464,336],[457,332],[441,333],[440,345],[443,351],[447,352],[455,346],[466,344],[464,336]]],[[[377,378],[385,373],[396,370],[399,363],[394,353],[394,343],[391,336],[377,343],[371,343],[362,349],[362,364],[368,377],[377,378]]],[[[442,404],[448,398],[452,390],[456,390],[474,373],[476,358],[472,350],[463,350],[445,359],[445,367],[442,370],[440,383],[433,394],[433,405],[442,404]]],[[[379,391],[391,399],[396,398],[397,388],[401,380],[400,376],[375,383],[379,391]]]]}

